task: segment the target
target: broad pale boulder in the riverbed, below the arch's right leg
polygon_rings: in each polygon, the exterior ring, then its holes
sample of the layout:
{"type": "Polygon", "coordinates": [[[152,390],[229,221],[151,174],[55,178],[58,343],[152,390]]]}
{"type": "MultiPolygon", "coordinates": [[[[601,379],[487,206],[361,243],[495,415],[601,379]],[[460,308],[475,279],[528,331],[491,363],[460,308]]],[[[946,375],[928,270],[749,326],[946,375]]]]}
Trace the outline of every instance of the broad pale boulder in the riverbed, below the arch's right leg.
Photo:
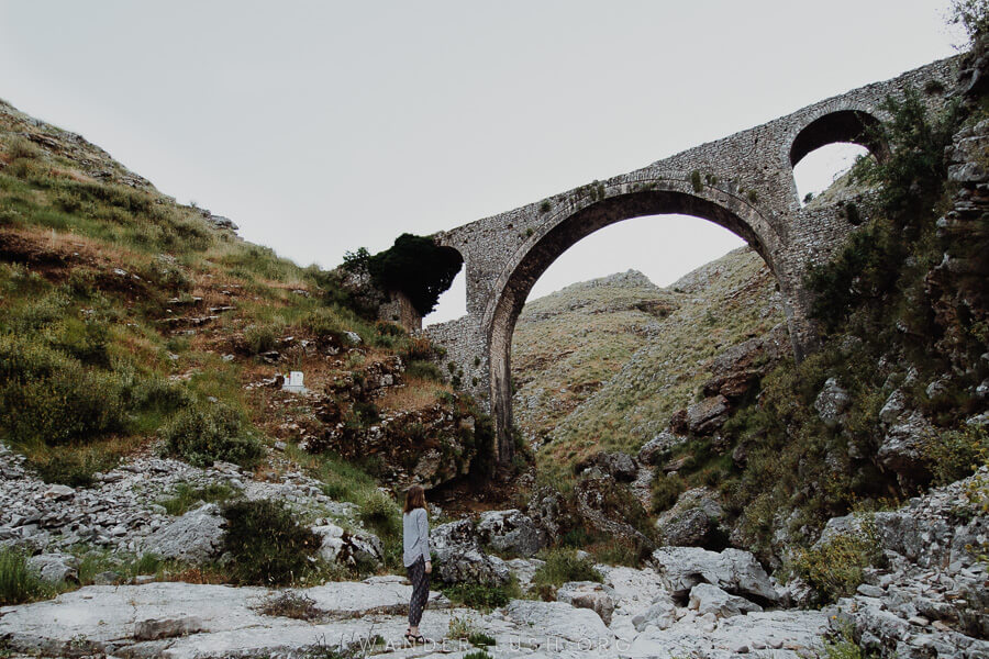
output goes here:
{"type": "Polygon", "coordinates": [[[776,602],[779,594],[766,570],[748,551],[709,551],[699,547],[662,547],[653,552],[653,563],[674,594],[686,599],[698,583],[710,583],[736,595],[776,602]]]}

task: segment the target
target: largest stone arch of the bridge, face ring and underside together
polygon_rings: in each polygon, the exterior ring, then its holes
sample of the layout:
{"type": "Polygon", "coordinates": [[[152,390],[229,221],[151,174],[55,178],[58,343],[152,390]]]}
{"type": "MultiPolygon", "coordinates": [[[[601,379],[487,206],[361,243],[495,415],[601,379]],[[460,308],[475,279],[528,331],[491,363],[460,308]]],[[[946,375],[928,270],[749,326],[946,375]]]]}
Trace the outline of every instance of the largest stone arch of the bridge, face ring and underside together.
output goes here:
{"type": "MultiPolygon", "coordinates": [[[[529,292],[545,270],[567,249],[592,233],[633,217],[647,215],[691,215],[719,224],[744,238],[776,275],[779,236],[758,210],[743,198],[714,185],[688,183],[682,174],[659,176],[652,181],[612,183],[596,198],[576,208],[566,208],[548,217],[538,233],[512,255],[485,310],[489,364],[489,401],[498,434],[497,455],[511,458],[513,445],[511,391],[511,344],[515,322],[529,292]]],[[[787,300],[792,288],[776,275],[787,300]]]]}

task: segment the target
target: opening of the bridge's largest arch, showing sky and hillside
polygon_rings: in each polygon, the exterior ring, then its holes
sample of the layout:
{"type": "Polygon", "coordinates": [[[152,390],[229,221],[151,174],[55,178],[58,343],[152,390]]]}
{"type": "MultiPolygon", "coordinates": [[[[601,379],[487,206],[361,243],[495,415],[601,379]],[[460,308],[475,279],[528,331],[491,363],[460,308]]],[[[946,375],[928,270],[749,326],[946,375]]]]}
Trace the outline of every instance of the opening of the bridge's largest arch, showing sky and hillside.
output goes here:
{"type": "Polygon", "coordinates": [[[553,443],[542,459],[559,465],[575,451],[634,454],[658,420],[694,402],[705,372],[698,355],[785,322],[773,286],[745,241],[697,217],[634,217],[587,236],[546,269],[520,312],[514,428],[533,449],[553,443]],[[727,290],[758,310],[736,322],[727,290]],[[769,304],[777,313],[764,313],[769,304]]]}

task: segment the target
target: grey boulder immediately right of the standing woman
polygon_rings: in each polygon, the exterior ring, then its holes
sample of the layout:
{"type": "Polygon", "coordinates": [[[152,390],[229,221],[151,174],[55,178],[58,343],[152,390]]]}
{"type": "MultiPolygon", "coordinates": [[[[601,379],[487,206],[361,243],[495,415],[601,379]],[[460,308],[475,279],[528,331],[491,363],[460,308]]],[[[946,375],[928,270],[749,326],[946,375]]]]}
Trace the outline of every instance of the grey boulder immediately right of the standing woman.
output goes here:
{"type": "Polygon", "coordinates": [[[477,529],[469,520],[437,526],[430,545],[436,555],[434,572],[444,583],[503,585],[511,577],[503,560],[481,550],[477,529]]]}

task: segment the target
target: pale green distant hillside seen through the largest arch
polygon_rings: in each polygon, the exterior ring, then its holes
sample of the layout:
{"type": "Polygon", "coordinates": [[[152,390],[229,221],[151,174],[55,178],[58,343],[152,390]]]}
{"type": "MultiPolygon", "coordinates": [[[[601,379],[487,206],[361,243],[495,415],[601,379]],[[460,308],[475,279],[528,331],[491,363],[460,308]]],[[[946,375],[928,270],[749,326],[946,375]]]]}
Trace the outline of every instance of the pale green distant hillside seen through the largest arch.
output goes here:
{"type": "Polygon", "coordinates": [[[547,440],[544,471],[602,448],[636,451],[694,401],[712,357],[784,322],[773,277],[748,248],[668,289],[601,281],[529,303],[515,330],[516,418],[547,440]]]}

